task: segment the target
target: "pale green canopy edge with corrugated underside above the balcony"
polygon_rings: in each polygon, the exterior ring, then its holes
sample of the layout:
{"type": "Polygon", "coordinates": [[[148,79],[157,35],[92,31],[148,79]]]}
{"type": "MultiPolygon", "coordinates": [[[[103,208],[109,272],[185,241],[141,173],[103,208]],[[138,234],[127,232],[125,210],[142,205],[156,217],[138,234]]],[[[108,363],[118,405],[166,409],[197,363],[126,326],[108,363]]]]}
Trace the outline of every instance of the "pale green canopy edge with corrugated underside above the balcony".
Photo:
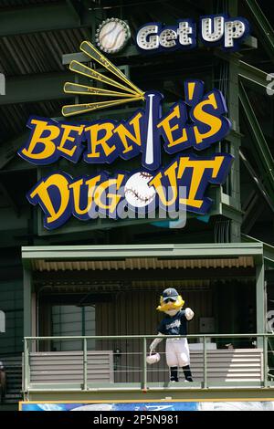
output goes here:
{"type": "Polygon", "coordinates": [[[259,242],[22,247],[24,266],[40,272],[246,268],[262,257],[259,242]]]}

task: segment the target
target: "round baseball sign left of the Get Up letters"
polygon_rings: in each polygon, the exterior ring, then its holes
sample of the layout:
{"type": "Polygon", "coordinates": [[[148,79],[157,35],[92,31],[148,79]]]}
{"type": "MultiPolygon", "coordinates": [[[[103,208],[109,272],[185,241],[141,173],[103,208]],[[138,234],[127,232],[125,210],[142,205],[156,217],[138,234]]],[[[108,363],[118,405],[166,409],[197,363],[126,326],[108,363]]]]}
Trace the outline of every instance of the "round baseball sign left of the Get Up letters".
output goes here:
{"type": "Polygon", "coordinates": [[[130,27],[121,19],[110,18],[101,23],[96,32],[96,43],[108,54],[121,51],[131,37],[130,27]]]}

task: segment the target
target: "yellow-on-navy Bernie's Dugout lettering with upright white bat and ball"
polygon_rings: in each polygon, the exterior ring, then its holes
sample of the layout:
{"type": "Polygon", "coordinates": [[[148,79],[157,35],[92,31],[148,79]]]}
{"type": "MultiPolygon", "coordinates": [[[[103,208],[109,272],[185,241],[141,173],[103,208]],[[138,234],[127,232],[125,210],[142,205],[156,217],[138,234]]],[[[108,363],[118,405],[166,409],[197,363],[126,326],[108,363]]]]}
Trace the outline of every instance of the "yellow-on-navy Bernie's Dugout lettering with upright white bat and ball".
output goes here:
{"type": "Polygon", "coordinates": [[[36,165],[66,158],[98,166],[111,164],[117,158],[128,161],[142,156],[142,167],[137,172],[110,175],[101,171],[73,178],[58,171],[39,180],[27,199],[40,205],[47,229],[57,228],[72,215],[90,220],[98,211],[113,219],[122,218],[125,207],[149,212],[155,205],[178,210],[184,204],[188,211],[207,213],[212,201],[205,197],[205,189],[208,183],[226,181],[233,157],[219,152],[203,157],[186,151],[194,148],[202,152],[224,139],[231,125],[225,116],[226,101],[219,90],[205,94],[200,80],[187,80],[184,89],[184,101],[179,100],[164,115],[163,96],[148,92],[144,95],[145,109],[136,110],[127,120],[28,120],[29,140],[18,153],[36,165]],[[162,147],[171,156],[164,166],[162,147]],[[180,196],[180,187],[186,189],[184,198],[180,196]]]}

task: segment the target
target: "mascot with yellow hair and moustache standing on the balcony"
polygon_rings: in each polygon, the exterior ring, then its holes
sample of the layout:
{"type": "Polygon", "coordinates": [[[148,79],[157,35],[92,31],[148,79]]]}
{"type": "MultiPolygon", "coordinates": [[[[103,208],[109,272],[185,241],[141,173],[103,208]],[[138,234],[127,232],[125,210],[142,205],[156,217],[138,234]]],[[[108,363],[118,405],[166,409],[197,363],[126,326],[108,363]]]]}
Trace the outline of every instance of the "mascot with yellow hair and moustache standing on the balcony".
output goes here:
{"type": "MultiPolygon", "coordinates": [[[[167,316],[162,320],[158,328],[158,337],[162,335],[186,335],[186,322],[194,317],[192,309],[184,309],[183,298],[176,289],[163,290],[160,298],[159,311],[167,316]]],[[[162,341],[156,338],[150,345],[151,352],[155,351],[157,345],[162,341]]],[[[166,340],[166,363],[170,368],[170,381],[178,382],[178,367],[183,367],[186,382],[193,382],[189,367],[189,348],[186,338],[171,338],[166,340]]]]}

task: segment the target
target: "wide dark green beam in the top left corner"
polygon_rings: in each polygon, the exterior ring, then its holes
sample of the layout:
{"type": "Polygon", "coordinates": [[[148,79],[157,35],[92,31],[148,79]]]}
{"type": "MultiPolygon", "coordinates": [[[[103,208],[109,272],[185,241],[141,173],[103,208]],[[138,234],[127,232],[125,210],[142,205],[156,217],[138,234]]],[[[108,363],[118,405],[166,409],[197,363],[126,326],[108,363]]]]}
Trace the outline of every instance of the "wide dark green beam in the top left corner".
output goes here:
{"type": "Polygon", "coordinates": [[[81,20],[71,2],[9,7],[0,14],[0,37],[90,27],[91,15],[87,9],[81,20]]]}

